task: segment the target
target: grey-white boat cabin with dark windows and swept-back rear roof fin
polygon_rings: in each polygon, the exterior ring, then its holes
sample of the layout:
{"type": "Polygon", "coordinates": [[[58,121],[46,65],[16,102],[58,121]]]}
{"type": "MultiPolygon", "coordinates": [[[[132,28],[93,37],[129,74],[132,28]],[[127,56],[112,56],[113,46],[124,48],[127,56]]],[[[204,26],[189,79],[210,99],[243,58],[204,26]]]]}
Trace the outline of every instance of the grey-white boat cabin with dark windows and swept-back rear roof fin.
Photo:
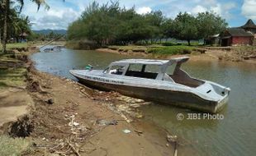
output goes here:
{"type": "Polygon", "coordinates": [[[181,69],[189,57],[178,57],[170,60],[125,59],[112,62],[104,74],[132,76],[153,80],[165,80],[190,87],[204,84],[204,81],[190,77],[181,69]]]}

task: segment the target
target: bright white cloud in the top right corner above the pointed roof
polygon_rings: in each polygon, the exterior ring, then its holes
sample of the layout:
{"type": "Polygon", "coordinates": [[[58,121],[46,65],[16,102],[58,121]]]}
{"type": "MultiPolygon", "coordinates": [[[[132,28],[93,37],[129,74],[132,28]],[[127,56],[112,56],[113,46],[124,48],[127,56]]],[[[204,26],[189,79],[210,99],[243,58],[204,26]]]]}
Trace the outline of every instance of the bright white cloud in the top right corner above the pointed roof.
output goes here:
{"type": "Polygon", "coordinates": [[[256,0],[244,0],[242,5],[242,15],[256,20],[256,0]]]}

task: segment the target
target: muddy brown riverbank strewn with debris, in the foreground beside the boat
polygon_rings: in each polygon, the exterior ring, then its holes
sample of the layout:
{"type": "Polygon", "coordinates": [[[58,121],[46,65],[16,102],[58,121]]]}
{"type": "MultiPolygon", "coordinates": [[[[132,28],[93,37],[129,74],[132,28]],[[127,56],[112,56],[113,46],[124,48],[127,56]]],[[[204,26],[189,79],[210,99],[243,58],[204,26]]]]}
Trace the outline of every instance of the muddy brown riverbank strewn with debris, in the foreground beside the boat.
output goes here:
{"type": "MultiPolygon", "coordinates": [[[[174,136],[155,125],[140,122],[143,115],[137,108],[147,104],[143,100],[100,92],[72,80],[36,71],[30,60],[22,67],[26,67],[26,83],[14,91],[16,85],[5,86],[5,92],[1,92],[5,103],[1,110],[10,107],[11,101],[16,101],[25,110],[21,114],[10,115],[8,110],[1,113],[3,134],[26,136],[26,148],[18,150],[17,155],[174,154],[178,140],[168,142],[174,136]],[[16,96],[16,92],[21,96],[16,96]],[[4,120],[8,117],[13,118],[4,120]]],[[[7,142],[12,143],[11,140],[7,142]]],[[[10,146],[7,142],[3,145],[10,146]]],[[[5,154],[14,151],[7,149],[5,154]]],[[[180,154],[185,152],[187,150],[182,150],[180,154]]]]}

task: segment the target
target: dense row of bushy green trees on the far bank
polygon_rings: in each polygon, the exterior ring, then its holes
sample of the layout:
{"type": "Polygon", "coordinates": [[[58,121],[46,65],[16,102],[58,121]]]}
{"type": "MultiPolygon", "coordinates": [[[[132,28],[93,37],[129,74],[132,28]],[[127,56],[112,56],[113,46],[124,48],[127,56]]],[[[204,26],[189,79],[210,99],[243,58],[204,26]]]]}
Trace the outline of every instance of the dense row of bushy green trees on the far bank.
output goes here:
{"type": "Polygon", "coordinates": [[[210,35],[225,30],[225,19],[214,12],[201,12],[192,16],[180,12],[174,19],[167,18],[162,11],[151,11],[140,15],[135,7],[120,7],[119,2],[99,5],[92,2],[80,18],[68,28],[68,39],[89,39],[98,45],[153,44],[162,39],[187,40],[207,39],[210,35]]]}

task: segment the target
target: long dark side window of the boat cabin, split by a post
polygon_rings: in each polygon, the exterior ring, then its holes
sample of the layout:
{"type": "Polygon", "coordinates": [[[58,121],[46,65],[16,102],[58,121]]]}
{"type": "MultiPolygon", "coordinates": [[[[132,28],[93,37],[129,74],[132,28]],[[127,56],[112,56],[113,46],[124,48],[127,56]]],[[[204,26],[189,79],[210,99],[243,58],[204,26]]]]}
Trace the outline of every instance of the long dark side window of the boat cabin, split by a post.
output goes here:
{"type": "Polygon", "coordinates": [[[156,79],[159,74],[159,65],[130,64],[126,76],[156,79]]]}

